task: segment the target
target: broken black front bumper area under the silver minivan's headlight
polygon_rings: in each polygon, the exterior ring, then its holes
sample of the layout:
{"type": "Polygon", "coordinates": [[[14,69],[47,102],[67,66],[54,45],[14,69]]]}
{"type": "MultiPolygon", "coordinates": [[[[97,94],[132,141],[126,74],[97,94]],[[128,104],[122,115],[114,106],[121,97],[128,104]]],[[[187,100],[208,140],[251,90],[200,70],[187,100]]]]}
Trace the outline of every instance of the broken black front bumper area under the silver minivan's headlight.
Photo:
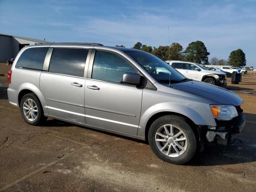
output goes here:
{"type": "Polygon", "coordinates": [[[244,128],[245,116],[242,112],[238,117],[230,121],[216,120],[216,127],[201,126],[201,134],[205,135],[208,142],[228,145],[230,141],[238,136],[244,128]]]}

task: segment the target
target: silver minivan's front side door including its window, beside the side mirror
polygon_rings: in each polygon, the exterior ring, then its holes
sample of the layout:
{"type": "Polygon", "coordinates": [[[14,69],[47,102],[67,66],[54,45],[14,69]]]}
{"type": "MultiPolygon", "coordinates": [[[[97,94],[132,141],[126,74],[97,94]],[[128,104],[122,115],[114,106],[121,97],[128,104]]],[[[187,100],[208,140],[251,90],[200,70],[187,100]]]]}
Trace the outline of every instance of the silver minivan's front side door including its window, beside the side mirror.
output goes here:
{"type": "Polygon", "coordinates": [[[86,124],[137,134],[143,89],[122,83],[126,72],[138,71],[114,53],[96,51],[85,85],[86,124]]]}

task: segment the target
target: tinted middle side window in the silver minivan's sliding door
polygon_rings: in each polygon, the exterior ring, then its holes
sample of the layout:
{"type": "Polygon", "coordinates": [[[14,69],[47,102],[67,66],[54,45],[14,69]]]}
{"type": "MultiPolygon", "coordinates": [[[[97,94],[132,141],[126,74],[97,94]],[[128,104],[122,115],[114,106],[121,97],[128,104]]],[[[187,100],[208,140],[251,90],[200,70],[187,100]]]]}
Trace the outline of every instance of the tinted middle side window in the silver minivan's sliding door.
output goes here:
{"type": "Polygon", "coordinates": [[[54,48],[49,72],[83,77],[88,49],[54,48]]]}

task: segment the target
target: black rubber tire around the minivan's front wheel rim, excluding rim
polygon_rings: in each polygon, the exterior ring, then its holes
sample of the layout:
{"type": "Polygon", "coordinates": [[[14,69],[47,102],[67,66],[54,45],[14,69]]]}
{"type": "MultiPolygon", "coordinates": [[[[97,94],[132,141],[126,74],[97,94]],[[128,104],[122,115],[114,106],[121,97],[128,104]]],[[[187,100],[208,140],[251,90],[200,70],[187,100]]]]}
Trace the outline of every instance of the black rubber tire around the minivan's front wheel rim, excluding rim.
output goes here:
{"type": "MultiPolygon", "coordinates": [[[[176,116],[176,115],[166,115],[156,119],[150,126],[150,129],[148,132],[148,142],[150,144],[150,148],[152,149],[154,154],[156,154],[156,156],[160,158],[160,160],[163,160],[165,162],[169,162],[172,164],[177,164],[177,165],[184,164],[189,160],[191,160],[192,157],[196,154],[197,147],[199,146],[196,140],[196,134],[194,133],[192,126],[190,126],[188,120],[184,117],[176,116]],[[182,130],[186,135],[186,142],[187,142],[186,150],[180,156],[177,156],[177,157],[167,156],[166,154],[160,151],[160,149],[158,148],[158,145],[156,144],[156,132],[158,131],[159,128],[161,128],[161,126],[164,126],[167,124],[172,124],[174,126],[179,127],[180,130],[182,130]]],[[[174,150],[174,148],[172,148],[173,145],[171,145],[170,147],[171,149],[174,150]]]]}

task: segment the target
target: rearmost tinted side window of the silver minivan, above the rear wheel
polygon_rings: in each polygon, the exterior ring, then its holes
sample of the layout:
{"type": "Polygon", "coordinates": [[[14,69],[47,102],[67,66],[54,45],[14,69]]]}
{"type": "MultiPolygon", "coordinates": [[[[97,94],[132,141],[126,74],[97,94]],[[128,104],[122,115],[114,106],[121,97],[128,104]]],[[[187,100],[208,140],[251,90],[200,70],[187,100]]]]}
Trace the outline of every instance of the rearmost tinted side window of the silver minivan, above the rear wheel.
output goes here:
{"type": "Polygon", "coordinates": [[[42,70],[48,47],[26,49],[18,59],[16,67],[42,70]]]}

